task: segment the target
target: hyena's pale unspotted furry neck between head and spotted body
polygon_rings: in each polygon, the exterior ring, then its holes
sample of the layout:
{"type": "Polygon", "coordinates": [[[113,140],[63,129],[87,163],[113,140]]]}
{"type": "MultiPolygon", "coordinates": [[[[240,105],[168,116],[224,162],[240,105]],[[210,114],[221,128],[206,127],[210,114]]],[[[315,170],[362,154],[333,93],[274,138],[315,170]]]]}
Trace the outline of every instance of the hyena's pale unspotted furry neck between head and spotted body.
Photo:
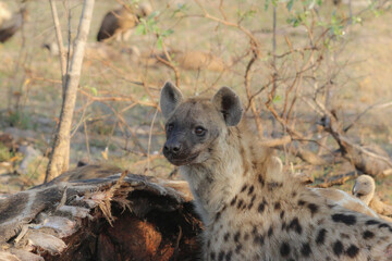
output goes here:
{"type": "Polygon", "coordinates": [[[201,164],[181,166],[195,197],[196,209],[205,224],[252,176],[252,152],[237,127],[221,135],[213,148],[213,157],[201,164]],[[245,178],[244,178],[245,177],[245,178]]]}

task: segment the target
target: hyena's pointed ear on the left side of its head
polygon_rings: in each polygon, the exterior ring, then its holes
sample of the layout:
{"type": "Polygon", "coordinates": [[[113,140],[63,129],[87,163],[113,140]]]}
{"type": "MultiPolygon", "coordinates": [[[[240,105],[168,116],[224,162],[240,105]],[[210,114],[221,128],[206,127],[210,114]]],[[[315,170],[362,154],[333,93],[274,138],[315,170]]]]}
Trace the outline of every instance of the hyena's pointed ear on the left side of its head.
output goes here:
{"type": "Polygon", "coordinates": [[[182,100],[183,95],[181,94],[181,90],[170,80],[166,82],[160,97],[160,107],[163,116],[168,119],[182,100]]]}

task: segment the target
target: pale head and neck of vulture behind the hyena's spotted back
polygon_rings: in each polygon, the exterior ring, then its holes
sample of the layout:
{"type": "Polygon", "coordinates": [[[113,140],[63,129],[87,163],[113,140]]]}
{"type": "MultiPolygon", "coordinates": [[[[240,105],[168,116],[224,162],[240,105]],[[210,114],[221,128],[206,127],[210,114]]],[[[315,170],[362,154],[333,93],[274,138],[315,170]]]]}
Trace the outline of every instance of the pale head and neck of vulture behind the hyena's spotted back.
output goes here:
{"type": "Polygon", "coordinates": [[[375,191],[376,183],[371,176],[360,175],[357,177],[353,186],[353,195],[379,213],[381,217],[392,221],[392,206],[382,202],[375,191]]]}

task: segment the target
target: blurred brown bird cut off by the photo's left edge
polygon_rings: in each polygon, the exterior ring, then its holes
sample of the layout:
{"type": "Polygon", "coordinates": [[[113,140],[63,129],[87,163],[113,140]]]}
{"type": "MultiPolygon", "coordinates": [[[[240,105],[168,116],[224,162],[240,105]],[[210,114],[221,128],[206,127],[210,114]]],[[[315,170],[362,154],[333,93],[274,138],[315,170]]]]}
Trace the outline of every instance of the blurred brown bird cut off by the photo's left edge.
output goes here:
{"type": "Polygon", "coordinates": [[[5,14],[3,17],[0,17],[0,42],[5,42],[21,29],[28,14],[25,8],[21,8],[20,11],[15,12],[10,17],[5,9],[3,10],[3,7],[4,5],[0,2],[0,16],[5,14]]]}

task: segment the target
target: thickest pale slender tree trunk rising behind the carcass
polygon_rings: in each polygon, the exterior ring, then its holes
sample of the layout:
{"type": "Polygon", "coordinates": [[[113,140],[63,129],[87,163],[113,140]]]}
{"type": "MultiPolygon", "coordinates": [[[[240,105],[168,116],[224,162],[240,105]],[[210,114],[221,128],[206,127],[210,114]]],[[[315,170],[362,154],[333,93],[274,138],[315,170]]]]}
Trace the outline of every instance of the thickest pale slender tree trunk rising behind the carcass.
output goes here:
{"type": "Polygon", "coordinates": [[[70,71],[65,78],[65,95],[61,107],[60,121],[54,134],[52,152],[45,176],[45,183],[60,175],[69,167],[70,130],[81,78],[85,45],[90,27],[95,0],[84,0],[70,71]]]}

